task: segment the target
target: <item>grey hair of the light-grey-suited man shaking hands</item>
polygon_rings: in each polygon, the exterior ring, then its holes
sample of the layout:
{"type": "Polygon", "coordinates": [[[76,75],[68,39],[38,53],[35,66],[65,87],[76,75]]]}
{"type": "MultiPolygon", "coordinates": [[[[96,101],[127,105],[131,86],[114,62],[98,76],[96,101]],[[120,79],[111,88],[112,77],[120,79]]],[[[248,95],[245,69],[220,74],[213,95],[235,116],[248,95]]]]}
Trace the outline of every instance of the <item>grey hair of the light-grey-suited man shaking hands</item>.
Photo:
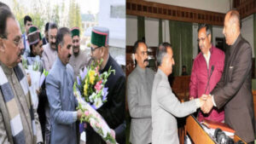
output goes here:
{"type": "Polygon", "coordinates": [[[167,54],[167,47],[172,48],[170,43],[160,43],[158,49],[156,49],[156,59],[157,59],[157,66],[162,64],[162,60],[167,54]]]}

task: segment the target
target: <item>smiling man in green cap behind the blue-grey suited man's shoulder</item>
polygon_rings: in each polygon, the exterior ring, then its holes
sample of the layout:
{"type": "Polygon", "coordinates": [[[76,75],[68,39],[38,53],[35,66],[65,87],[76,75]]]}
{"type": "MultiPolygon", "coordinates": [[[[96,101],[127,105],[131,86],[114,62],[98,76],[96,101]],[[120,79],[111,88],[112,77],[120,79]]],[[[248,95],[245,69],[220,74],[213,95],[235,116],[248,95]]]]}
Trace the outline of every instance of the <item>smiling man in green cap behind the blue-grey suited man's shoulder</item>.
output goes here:
{"type": "Polygon", "coordinates": [[[69,64],[73,66],[74,78],[79,75],[79,71],[88,66],[90,61],[90,55],[86,55],[85,50],[80,49],[80,31],[79,27],[73,27],[71,29],[72,43],[73,43],[73,55],[71,55],[69,64]]]}

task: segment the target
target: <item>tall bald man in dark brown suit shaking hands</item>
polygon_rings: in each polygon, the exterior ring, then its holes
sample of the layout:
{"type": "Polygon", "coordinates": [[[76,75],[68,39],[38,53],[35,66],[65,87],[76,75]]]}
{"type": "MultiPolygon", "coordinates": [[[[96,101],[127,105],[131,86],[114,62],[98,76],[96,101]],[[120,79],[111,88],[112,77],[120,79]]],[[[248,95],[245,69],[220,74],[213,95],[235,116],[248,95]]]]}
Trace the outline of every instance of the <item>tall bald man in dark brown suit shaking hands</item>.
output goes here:
{"type": "Polygon", "coordinates": [[[252,47],[241,37],[240,15],[230,10],[224,19],[224,36],[230,46],[226,50],[224,73],[202,107],[224,107],[224,121],[236,135],[247,143],[254,143],[254,112],[252,95],[252,47]]]}

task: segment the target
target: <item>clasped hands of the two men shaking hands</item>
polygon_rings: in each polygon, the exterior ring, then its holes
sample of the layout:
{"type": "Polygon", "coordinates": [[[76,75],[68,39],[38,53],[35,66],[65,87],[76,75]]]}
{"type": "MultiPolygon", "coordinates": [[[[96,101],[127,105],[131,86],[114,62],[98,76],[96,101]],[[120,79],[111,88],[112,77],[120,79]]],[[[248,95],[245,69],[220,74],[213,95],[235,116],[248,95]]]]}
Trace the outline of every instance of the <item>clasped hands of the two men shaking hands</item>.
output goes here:
{"type": "Polygon", "coordinates": [[[212,95],[203,94],[199,98],[199,101],[200,101],[200,107],[202,112],[208,113],[212,110],[212,107],[213,107],[212,95]]]}

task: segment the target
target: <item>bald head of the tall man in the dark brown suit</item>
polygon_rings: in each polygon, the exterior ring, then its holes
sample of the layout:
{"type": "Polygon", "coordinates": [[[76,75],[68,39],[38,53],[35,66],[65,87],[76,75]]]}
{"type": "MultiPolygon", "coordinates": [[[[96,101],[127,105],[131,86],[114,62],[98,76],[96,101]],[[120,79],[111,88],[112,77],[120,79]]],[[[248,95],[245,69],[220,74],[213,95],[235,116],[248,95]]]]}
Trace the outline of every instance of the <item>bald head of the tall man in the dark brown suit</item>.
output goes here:
{"type": "Polygon", "coordinates": [[[232,45],[236,38],[240,35],[240,14],[237,10],[230,10],[224,19],[223,34],[226,38],[226,43],[232,45]]]}

